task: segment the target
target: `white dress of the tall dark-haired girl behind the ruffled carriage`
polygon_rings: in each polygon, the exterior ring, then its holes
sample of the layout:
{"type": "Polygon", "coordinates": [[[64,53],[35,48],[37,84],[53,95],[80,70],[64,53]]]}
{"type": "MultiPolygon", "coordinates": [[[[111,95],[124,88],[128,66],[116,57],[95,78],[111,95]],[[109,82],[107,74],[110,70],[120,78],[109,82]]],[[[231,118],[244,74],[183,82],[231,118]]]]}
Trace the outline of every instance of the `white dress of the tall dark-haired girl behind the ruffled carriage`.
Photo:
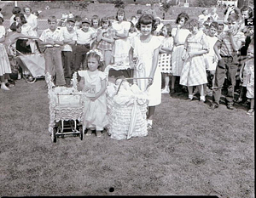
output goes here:
{"type": "MultiPolygon", "coordinates": [[[[133,37],[131,47],[134,49],[133,57],[138,59],[134,69],[135,77],[148,77],[152,69],[154,50],[160,47],[160,38],[152,36],[149,42],[141,42],[140,37],[133,37]]],[[[148,80],[138,80],[138,86],[145,91],[148,80]]],[[[147,89],[148,106],[160,105],[161,103],[161,73],[160,67],[156,67],[153,84],[147,89]]]]}

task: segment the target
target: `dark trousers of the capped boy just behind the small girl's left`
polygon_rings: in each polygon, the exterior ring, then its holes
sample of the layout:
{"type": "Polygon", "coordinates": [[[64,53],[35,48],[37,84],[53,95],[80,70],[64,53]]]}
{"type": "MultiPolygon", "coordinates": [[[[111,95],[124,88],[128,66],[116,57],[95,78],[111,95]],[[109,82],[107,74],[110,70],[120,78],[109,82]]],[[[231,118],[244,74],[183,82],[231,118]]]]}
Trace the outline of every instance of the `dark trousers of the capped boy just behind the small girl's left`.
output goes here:
{"type": "Polygon", "coordinates": [[[90,45],[77,45],[76,46],[76,53],[74,57],[74,64],[72,68],[72,73],[74,71],[79,71],[80,68],[84,70],[84,59],[86,57],[86,53],[89,52],[90,45]]]}

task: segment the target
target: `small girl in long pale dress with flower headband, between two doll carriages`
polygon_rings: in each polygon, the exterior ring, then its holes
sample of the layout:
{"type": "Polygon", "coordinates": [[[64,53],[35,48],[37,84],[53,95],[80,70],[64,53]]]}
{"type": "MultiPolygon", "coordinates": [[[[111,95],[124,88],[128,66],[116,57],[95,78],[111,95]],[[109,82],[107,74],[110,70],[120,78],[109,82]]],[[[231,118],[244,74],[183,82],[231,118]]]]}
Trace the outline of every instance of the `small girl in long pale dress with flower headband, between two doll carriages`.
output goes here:
{"type": "Polygon", "coordinates": [[[107,116],[107,76],[99,69],[102,67],[103,56],[98,50],[90,50],[86,54],[87,70],[79,71],[81,80],[79,87],[84,92],[83,130],[91,135],[96,129],[96,137],[102,136],[102,130],[108,125],[107,116]]]}

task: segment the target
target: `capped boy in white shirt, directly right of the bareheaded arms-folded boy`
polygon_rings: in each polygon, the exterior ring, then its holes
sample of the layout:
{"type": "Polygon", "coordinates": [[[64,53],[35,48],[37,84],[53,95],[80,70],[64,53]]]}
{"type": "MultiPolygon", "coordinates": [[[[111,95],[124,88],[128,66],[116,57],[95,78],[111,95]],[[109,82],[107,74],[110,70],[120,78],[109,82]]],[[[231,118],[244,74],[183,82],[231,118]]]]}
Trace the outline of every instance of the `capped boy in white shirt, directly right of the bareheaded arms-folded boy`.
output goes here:
{"type": "Polygon", "coordinates": [[[73,64],[73,48],[75,41],[74,31],[75,20],[73,18],[67,18],[66,26],[61,27],[61,32],[64,37],[64,45],[61,46],[61,58],[64,69],[64,77],[67,86],[70,85],[70,79],[72,77],[71,67],[73,64]]]}

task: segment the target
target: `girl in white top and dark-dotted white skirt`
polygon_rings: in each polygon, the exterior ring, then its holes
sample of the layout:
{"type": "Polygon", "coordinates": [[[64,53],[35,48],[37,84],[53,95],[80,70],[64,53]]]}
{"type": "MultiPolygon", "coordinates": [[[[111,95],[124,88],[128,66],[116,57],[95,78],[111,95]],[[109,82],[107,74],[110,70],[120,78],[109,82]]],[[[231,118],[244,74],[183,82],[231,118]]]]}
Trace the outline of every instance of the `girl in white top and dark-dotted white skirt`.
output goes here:
{"type": "Polygon", "coordinates": [[[160,47],[159,62],[160,70],[163,74],[165,80],[165,88],[162,90],[162,93],[170,93],[169,82],[170,74],[172,73],[172,48],[173,48],[173,37],[172,37],[172,25],[166,24],[161,29],[164,39],[160,47]]]}

